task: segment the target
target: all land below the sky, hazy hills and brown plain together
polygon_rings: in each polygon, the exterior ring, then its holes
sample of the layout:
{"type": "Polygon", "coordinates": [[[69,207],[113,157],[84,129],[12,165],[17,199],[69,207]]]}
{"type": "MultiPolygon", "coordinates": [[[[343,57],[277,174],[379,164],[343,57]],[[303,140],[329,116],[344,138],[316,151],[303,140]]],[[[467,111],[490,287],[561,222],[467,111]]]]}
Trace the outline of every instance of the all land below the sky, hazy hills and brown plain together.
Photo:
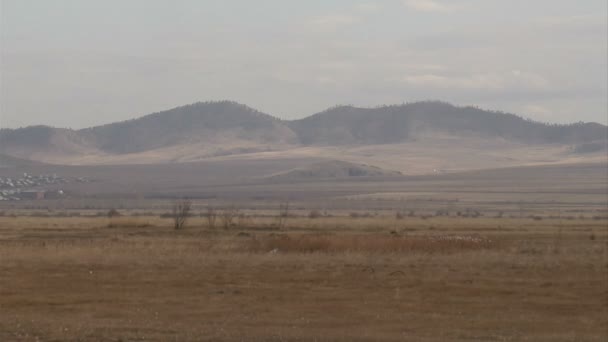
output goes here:
{"type": "Polygon", "coordinates": [[[4,130],[0,340],[605,341],[605,132],[437,103],[4,130]]]}

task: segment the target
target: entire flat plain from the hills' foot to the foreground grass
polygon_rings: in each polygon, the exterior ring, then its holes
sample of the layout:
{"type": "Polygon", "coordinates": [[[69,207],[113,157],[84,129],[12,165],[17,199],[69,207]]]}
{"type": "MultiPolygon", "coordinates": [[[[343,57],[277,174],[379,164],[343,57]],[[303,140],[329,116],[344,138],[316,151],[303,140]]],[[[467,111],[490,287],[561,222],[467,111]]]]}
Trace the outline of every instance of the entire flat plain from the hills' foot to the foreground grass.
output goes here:
{"type": "Polygon", "coordinates": [[[301,163],[23,169],[91,181],[0,203],[0,340],[608,337],[605,163],[264,177],[301,163]]]}

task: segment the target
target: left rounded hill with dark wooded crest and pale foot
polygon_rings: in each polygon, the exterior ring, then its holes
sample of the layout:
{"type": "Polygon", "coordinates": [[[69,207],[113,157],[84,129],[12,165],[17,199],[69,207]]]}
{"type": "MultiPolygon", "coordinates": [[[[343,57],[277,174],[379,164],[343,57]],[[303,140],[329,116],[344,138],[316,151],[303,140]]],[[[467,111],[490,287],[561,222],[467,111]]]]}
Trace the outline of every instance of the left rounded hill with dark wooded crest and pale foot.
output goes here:
{"type": "Polygon", "coordinates": [[[139,119],[70,130],[48,126],[0,130],[0,153],[33,160],[122,155],[175,146],[216,146],[210,153],[256,151],[259,146],[298,143],[281,120],[247,106],[206,102],[139,119]]]}

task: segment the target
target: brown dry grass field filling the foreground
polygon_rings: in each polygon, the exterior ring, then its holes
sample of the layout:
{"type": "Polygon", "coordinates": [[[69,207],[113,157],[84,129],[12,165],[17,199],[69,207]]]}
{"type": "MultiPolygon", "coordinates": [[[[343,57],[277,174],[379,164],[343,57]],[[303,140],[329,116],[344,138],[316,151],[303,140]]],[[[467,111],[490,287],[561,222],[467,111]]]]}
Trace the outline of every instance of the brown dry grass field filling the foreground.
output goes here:
{"type": "Polygon", "coordinates": [[[606,341],[607,224],[0,217],[0,340],[606,341]]]}

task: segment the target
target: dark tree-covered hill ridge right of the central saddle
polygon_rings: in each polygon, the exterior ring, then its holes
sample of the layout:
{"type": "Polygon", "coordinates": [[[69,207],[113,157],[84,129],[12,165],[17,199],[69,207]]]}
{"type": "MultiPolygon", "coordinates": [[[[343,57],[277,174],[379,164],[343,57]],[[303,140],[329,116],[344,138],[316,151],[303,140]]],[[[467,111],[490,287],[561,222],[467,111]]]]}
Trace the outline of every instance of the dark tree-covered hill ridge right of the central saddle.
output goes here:
{"type": "Polygon", "coordinates": [[[289,122],[304,144],[389,144],[432,132],[500,137],[541,144],[577,144],[606,140],[608,129],[598,123],[549,125],[514,114],[444,102],[417,102],[379,108],[335,107],[289,122]]]}

